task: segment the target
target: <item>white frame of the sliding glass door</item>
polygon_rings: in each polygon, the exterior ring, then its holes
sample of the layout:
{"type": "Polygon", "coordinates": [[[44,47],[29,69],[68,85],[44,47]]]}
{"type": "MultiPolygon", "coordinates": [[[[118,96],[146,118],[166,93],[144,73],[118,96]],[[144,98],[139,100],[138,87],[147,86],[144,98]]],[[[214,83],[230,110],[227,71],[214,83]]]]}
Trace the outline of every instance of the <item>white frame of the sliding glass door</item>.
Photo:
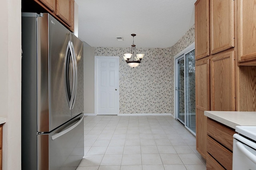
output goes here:
{"type": "MultiPolygon", "coordinates": [[[[184,67],[186,66],[186,54],[190,53],[190,51],[193,51],[195,49],[195,43],[192,43],[191,45],[189,45],[188,47],[186,47],[186,49],[182,50],[180,53],[178,53],[177,55],[174,56],[174,118],[179,120],[178,117],[178,111],[179,111],[179,107],[178,107],[178,95],[177,95],[177,91],[176,87],[178,85],[178,71],[177,71],[177,64],[178,64],[178,60],[181,58],[184,58],[184,67]]],[[[184,69],[184,87],[186,87],[186,69],[184,69]]],[[[186,103],[186,88],[184,89],[184,101],[186,103]]],[[[194,131],[192,131],[189,127],[186,126],[186,104],[184,104],[184,110],[185,110],[185,115],[184,115],[184,119],[185,122],[183,123],[181,120],[179,120],[182,124],[184,124],[185,128],[188,129],[188,131],[190,131],[190,133],[192,133],[194,136],[196,136],[196,133],[194,131]]]]}

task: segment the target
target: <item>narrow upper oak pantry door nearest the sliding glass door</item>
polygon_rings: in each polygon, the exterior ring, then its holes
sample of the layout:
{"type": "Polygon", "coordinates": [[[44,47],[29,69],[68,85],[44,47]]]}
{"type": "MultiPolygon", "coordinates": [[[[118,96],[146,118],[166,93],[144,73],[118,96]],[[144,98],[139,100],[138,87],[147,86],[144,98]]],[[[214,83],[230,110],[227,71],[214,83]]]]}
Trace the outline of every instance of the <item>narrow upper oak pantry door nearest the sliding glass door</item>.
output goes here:
{"type": "Polygon", "coordinates": [[[209,0],[195,3],[195,51],[196,60],[210,55],[209,0]]]}

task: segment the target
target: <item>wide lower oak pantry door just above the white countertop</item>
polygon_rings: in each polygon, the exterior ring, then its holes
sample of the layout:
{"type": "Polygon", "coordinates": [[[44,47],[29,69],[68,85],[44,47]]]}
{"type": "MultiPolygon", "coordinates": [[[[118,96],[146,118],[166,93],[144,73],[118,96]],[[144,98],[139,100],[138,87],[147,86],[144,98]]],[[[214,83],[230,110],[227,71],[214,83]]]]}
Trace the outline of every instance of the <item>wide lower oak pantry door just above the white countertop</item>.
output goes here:
{"type": "Polygon", "coordinates": [[[234,50],[213,55],[210,59],[211,110],[235,111],[234,50]]]}

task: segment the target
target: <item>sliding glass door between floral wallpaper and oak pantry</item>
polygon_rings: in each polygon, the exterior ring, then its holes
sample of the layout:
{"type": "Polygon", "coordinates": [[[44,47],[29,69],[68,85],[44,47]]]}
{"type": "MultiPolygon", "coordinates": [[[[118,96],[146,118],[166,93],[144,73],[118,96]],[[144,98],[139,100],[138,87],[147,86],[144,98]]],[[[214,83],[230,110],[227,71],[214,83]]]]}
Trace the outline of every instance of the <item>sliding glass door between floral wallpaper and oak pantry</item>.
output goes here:
{"type": "Polygon", "coordinates": [[[196,133],[195,53],[186,51],[176,58],[176,118],[196,133]]]}

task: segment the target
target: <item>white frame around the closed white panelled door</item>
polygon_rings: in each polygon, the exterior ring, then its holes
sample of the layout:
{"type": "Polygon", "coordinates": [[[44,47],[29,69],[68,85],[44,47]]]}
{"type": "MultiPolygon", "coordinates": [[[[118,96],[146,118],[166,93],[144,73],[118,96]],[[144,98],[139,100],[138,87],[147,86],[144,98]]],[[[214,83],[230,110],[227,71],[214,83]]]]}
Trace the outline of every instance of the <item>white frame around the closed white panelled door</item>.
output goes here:
{"type": "Polygon", "coordinates": [[[98,107],[97,107],[97,100],[98,100],[98,91],[97,91],[97,61],[98,59],[117,59],[117,115],[119,115],[119,57],[118,56],[95,56],[94,57],[94,115],[98,115],[98,107]]]}

